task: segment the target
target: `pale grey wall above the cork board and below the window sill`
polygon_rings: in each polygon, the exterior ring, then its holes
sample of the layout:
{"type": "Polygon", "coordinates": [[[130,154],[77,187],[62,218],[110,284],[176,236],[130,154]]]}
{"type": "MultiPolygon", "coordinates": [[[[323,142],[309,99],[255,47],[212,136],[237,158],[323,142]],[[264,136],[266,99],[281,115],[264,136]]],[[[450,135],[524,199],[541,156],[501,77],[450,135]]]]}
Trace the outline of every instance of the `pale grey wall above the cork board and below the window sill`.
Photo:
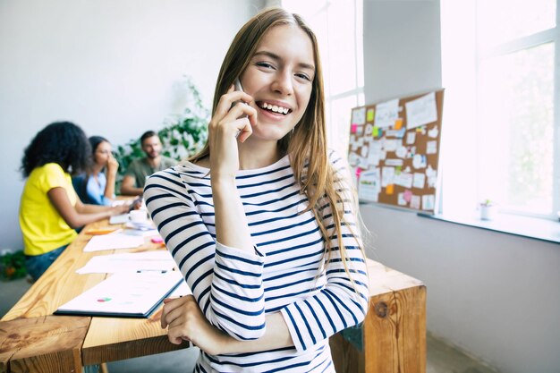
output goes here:
{"type": "MultiPolygon", "coordinates": [[[[439,40],[437,0],[364,0],[366,103],[440,86],[439,40]]],[[[505,373],[560,371],[560,245],[374,205],[361,212],[372,259],[427,285],[429,331],[505,373]]]]}

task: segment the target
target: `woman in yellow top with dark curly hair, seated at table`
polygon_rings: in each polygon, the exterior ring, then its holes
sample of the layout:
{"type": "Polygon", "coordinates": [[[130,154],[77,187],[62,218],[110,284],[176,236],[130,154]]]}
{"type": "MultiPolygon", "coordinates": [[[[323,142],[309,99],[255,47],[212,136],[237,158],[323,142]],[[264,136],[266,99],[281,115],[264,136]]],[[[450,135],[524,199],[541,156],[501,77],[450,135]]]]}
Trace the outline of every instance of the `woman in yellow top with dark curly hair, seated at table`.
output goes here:
{"type": "Polygon", "coordinates": [[[20,226],[25,267],[34,280],[76,237],[75,228],[128,209],[81,203],[70,174],[86,169],[90,153],[85,133],[69,122],[47,125],[25,149],[21,172],[27,182],[21,193],[20,226]]]}

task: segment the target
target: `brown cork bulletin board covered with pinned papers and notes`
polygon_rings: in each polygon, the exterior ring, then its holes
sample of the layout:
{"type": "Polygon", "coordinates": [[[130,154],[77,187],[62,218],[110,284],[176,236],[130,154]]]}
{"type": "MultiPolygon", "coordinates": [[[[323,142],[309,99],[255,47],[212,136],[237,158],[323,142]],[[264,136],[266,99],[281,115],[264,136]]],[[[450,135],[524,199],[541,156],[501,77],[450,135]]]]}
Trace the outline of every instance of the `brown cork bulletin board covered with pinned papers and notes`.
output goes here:
{"type": "Polygon", "coordinates": [[[354,107],[348,162],[359,199],[433,213],[444,90],[354,107]]]}

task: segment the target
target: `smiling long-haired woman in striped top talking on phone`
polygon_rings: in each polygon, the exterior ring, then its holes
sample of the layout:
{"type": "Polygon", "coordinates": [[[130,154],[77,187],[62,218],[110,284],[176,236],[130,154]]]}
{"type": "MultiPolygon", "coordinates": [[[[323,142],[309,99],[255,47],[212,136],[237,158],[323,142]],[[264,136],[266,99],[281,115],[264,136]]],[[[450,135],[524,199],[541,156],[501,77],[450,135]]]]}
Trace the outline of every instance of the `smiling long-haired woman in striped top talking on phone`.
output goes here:
{"type": "Polygon", "coordinates": [[[199,346],[196,371],[334,372],[328,337],[365,317],[355,196],[327,149],[322,79],[301,17],[257,14],[225,55],[206,147],[148,179],[146,206],[193,294],[165,301],[162,327],[199,346]]]}

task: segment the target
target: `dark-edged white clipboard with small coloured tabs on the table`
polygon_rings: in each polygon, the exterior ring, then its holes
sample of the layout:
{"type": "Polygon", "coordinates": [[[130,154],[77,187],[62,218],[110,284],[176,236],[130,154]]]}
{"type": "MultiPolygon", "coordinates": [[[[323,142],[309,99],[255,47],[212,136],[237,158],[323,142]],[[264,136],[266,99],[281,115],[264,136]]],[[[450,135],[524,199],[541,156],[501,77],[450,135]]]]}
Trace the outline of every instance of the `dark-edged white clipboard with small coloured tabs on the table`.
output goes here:
{"type": "Polygon", "coordinates": [[[115,274],[64,303],[54,314],[148,318],[183,282],[179,271],[115,274]]]}

